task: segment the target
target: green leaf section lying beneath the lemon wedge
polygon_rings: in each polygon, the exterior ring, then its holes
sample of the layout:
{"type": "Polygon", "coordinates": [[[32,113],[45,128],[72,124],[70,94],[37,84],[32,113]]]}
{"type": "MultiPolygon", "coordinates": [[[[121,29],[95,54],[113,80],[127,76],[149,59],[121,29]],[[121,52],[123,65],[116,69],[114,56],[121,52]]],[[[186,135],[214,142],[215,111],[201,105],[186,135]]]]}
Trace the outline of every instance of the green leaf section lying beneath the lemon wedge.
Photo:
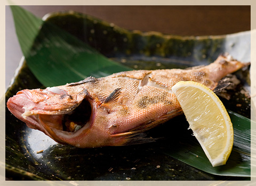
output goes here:
{"type": "Polygon", "coordinates": [[[199,142],[189,132],[179,136],[180,145],[173,146],[173,143],[165,145],[163,152],[207,173],[250,177],[251,121],[232,111],[228,111],[228,113],[234,128],[234,145],[226,165],[212,167],[199,142]]]}

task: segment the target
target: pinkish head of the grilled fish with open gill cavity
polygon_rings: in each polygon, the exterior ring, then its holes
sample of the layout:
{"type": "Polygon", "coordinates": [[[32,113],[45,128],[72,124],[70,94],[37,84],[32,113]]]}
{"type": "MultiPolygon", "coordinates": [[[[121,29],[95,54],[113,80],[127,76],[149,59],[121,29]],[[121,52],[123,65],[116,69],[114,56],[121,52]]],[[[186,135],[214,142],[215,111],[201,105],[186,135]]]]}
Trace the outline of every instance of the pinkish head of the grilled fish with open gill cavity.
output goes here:
{"type": "Polygon", "coordinates": [[[25,89],[9,98],[6,105],[29,128],[42,131],[61,144],[97,146],[95,140],[89,139],[97,136],[91,130],[97,109],[84,86],[25,89]]]}

